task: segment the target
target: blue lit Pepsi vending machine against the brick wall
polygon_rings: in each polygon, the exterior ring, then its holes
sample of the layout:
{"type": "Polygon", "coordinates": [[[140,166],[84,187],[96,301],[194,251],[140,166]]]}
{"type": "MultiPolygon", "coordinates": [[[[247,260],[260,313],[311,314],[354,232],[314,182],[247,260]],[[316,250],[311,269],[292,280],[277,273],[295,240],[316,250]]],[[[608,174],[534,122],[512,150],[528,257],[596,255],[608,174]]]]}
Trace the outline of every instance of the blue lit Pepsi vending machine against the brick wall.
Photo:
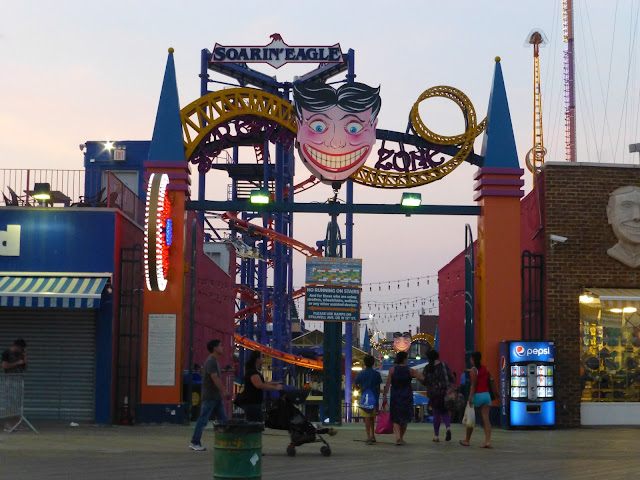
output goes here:
{"type": "Polygon", "coordinates": [[[502,428],[556,421],[553,342],[500,342],[502,428]]]}

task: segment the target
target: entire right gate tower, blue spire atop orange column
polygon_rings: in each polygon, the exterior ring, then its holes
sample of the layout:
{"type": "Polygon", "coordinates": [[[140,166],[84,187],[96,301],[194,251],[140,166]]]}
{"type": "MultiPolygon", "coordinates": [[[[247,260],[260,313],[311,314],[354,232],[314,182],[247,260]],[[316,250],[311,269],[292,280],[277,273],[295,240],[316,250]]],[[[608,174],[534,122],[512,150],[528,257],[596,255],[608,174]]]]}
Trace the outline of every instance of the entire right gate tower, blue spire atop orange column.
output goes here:
{"type": "Polygon", "coordinates": [[[474,200],[482,207],[476,273],[478,337],[473,342],[467,336],[466,350],[481,351],[483,363],[486,359],[489,370],[497,372],[500,340],[521,335],[520,198],[524,195],[524,170],[518,162],[500,57],[496,57],[482,155],[484,166],[474,177],[474,200]]]}

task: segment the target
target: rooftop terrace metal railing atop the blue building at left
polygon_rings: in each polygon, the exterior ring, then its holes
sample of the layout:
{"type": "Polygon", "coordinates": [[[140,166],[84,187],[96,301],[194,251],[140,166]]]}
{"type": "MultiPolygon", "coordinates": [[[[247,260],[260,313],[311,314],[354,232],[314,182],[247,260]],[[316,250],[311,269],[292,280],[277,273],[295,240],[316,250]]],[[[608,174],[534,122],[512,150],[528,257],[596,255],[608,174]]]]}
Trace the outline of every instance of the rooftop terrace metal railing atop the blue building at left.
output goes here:
{"type": "Polygon", "coordinates": [[[49,184],[49,206],[117,208],[144,224],[144,201],[109,171],[0,169],[5,205],[38,206],[33,198],[36,183],[49,184]]]}

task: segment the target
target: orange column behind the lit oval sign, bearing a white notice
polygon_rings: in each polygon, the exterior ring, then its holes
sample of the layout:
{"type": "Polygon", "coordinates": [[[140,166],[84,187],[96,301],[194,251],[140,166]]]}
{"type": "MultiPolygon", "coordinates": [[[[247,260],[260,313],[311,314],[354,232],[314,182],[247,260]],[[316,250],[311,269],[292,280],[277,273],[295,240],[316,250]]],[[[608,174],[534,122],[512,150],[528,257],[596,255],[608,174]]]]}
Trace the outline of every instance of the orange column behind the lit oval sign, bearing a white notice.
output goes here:
{"type": "MultiPolygon", "coordinates": [[[[184,305],[185,286],[184,276],[189,265],[185,261],[185,201],[189,194],[188,166],[185,162],[145,162],[148,177],[151,173],[169,175],[168,195],[171,201],[172,244],[169,250],[169,270],[167,287],[164,291],[149,291],[145,286],[144,309],[142,323],[142,361],[141,361],[141,395],[140,403],[147,404],[176,404],[182,402],[182,355],[184,348],[184,305]],[[175,316],[175,338],[167,337],[168,331],[161,333],[162,337],[153,339],[156,345],[167,343],[164,359],[149,352],[149,316],[170,315],[163,317],[160,324],[167,327],[175,316]],[[173,350],[173,351],[172,351],[173,350]],[[151,364],[150,364],[151,363],[151,364]],[[167,378],[173,368],[173,380],[167,378]],[[149,377],[149,373],[152,377],[149,377]],[[160,381],[158,381],[158,378],[160,381]],[[158,385],[163,383],[163,385],[158,385]],[[166,383],[166,385],[164,385],[166,383]],[[168,383],[171,383],[170,385],[168,383]]],[[[155,317],[158,318],[158,317],[155,317]]],[[[158,335],[158,332],[152,332],[158,335]]]]}

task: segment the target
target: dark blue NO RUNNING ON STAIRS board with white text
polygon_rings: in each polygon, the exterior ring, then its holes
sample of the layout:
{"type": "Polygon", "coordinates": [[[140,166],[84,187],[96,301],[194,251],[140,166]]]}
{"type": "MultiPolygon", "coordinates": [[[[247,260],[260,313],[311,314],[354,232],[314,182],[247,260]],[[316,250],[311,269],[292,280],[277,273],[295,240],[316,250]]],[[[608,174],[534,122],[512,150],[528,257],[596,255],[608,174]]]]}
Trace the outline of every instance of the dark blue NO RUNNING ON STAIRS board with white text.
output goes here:
{"type": "Polygon", "coordinates": [[[360,321],[360,287],[307,287],[305,320],[360,321]]]}

